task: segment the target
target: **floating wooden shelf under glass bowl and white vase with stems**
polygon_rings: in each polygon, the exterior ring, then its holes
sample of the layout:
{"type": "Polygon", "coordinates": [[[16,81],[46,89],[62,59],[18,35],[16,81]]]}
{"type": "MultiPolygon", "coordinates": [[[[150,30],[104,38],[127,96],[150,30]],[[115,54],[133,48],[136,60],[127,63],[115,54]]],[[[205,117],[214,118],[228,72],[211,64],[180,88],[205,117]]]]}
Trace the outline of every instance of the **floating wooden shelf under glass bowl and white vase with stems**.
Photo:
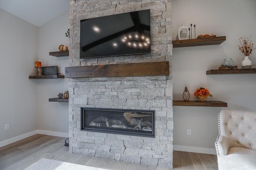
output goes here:
{"type": "Polygon", "coordinates": [[[228,69],[228,70],[208,70],[206,75],[212,74],[256,74],[256,69],[228,69]]]}

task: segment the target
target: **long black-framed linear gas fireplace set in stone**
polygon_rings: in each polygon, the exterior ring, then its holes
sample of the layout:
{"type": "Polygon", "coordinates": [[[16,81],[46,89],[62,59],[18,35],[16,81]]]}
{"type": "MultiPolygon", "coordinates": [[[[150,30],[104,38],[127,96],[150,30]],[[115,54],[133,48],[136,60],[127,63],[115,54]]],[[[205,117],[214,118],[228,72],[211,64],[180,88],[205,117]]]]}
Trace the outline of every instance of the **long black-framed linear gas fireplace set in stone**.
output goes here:
{"type": "Polygon", "coordinates": [[[81,108],[81,130],[154,137],[154,111],[81,108]]]}

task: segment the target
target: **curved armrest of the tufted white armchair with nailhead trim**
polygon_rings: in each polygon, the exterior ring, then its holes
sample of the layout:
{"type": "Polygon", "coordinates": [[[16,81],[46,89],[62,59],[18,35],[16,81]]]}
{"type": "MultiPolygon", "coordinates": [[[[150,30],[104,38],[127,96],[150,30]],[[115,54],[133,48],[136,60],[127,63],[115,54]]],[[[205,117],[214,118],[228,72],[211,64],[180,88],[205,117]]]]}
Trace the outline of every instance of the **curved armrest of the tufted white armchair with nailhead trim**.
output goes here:
{"type": "Polygon", "coordinates": [[[215,142],[215,147],[218,155],[227,155],[229,148],[228,138],[219,134],[215,142]]]}

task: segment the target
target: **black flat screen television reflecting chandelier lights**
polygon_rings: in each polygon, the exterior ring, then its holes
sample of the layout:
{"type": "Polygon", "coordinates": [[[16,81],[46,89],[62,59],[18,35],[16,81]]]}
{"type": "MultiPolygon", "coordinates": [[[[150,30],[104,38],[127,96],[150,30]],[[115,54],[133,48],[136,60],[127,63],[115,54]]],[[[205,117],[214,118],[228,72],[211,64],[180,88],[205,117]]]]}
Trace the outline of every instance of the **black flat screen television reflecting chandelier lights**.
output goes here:
{"type": "Polygon", "coordinates": [[[150,10],[80,22],[81,59],[150,53],[150,10]]]}

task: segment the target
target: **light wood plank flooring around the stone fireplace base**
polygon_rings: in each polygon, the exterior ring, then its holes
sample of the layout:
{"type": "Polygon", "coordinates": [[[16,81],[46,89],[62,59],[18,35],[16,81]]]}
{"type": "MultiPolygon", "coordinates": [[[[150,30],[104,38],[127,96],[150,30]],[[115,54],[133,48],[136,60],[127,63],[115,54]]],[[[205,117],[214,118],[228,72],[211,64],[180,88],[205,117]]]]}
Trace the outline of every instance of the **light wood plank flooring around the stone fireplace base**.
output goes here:
{"type": "MultiPolygon", "coordinates": [[[[66,138],[36,134],[0,148],[0,170],[22,170],[40,158],[110,170],[168,170],[168,168],[134,164],[106,158],[70,153],[66,138]]],[[[211,154],[173,152],[174,170],[217,170],[217,157],[211,154]]]]}

